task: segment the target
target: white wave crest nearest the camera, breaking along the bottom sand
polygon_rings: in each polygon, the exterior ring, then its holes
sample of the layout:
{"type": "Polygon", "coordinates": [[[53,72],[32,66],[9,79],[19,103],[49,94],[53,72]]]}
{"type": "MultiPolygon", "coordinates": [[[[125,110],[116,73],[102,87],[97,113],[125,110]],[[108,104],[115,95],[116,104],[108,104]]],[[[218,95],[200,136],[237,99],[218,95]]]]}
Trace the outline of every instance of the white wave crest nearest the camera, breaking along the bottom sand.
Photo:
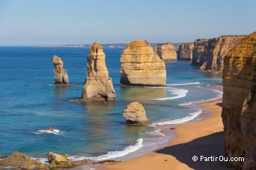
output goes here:
{"type": "Polygon", "coordinates": [[[100,155],[99,157],[68,157],[70,160],[79,161],[79,160],[94,160],[94,161],[101,161],[101,160],[110,160],[116,157],[124,157],[125,155],[137,151],[141,148],[143,139],[138,139],[135,145],[129,145],[122,151],[109,151],[107,154],[100,155]]]}

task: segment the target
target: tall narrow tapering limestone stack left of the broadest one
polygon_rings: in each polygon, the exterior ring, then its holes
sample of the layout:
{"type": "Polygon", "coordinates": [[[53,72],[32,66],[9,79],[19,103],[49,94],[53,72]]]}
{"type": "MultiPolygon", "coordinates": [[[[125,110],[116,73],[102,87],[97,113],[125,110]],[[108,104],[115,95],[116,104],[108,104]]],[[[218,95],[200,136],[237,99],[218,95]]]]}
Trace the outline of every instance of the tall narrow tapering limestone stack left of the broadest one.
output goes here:
{"type": "Polygon", "coordinates": [[[82,91],[83,101],[115,101],[115,89],[105,63],[103,46],[94,42],[87,58],[87,77],[82,91]]]}

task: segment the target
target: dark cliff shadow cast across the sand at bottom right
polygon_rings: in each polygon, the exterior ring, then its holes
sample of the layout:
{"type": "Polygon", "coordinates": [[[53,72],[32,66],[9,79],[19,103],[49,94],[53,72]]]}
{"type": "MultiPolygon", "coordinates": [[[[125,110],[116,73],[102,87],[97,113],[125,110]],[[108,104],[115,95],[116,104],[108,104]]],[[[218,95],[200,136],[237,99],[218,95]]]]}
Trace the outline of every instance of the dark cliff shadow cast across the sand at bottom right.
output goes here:
{"type": "Polygon", "coordinates": [[[200,161],[201,156],[226,157],[224,146],[224,132],[218,132],[190,142],[166,147],[156,151],[156,153],[176,157],[177,160],[185,163],[191,169],[232,169],[225,161],[200,161]],[[197,161],[192,160],[194,156],[198,157],[197,161]]]}

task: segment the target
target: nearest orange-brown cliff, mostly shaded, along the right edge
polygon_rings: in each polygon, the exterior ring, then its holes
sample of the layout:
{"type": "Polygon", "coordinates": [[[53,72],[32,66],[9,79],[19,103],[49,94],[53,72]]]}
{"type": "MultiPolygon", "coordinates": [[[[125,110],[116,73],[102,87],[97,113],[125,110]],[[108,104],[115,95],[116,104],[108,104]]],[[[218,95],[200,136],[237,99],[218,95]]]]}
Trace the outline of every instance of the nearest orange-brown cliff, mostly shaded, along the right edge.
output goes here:
{"type": "Polygon", "coordinates": [[[223,86],[225,152],[245,158],[230,162],[236,169],[256,169],[256,32],[225,57],[223,86]]]}

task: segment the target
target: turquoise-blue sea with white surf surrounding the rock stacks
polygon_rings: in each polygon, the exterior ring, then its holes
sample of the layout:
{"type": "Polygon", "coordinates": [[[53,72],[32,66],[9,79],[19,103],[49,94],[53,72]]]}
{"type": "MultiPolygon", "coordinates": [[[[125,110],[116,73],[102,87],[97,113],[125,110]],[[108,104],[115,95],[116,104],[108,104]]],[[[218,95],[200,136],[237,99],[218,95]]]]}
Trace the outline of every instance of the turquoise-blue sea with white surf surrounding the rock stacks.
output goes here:
{"type": "Polygon", "coordinates": [[[0,47],[0,154],[20,151],[42,157],[49,151],[73,159],[122,160],[167,141],[156,125],[195,119],[195,104],[222,96],[210,89],[221,75],[198,72],[190,61],[166,63],[167,86],[121,86],[121,48],[104,48],[115,102],[73,103],[81,98],[89,48],[0,47]],[[64,62],[70,85],[55,82],[52,55],[64,62]],[[153,125],[127,126],[123,110],[132,101],[144,105],[153,125]],[[53,127],[58,133],[44,130],[53,127]],[[77,157],[75,157],[77,156],[77,157]]]}

